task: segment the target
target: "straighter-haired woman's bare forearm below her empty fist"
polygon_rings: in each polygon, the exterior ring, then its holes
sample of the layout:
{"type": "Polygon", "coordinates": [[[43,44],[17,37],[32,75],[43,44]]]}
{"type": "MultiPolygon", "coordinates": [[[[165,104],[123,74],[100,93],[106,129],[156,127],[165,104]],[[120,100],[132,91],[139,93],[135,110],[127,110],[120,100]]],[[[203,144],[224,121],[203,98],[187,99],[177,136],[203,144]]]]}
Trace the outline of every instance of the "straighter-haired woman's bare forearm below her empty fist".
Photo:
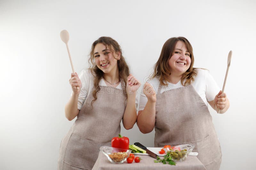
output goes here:
{"type": "Polygon", "coordinates": [[[137,125],[142,133],[149,133],[155,127],[156,102],[148,101],[144,110],[138,114],[137,125]]]}

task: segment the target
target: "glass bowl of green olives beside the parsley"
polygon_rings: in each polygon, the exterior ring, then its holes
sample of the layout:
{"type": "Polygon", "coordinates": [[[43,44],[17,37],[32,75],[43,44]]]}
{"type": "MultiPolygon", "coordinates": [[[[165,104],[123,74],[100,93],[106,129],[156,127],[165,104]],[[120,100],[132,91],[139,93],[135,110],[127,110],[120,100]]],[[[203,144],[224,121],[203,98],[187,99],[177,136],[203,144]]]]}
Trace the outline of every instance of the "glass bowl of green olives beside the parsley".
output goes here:
{"type": "Polygon", "coordinates": [[[164,148],[165,153],[170,153],[173,161],[183,161],[187,158],[188,154],[194,149],[193,144],[181,144],[173,148],[164,148]]]}

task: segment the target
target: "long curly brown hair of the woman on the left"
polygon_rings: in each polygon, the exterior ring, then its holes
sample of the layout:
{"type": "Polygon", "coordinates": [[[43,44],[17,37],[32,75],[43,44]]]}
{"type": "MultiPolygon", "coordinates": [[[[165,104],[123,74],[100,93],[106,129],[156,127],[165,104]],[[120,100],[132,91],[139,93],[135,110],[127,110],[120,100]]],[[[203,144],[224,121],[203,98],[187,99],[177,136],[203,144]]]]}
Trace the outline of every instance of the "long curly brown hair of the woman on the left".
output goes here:
{"type": "MultiPolygon", "coordinates": [[[[94,48],[98,43],[104,44],[106,46],[106,49],[107,49],[107,46],[109,46],[112,53],[120,52],[120,59],[116,58],[117,59],[117,67],[118,67],[119,78],[124,80],[125,87],[126,87],[125,80],[127,79],[127,77],[130,74],[129,67],[128,67],[127,63],[125,62],[124,56],[122,55],[122,49],[121,49],[120,45],[114,39],[112,39],[111,37],[100,37],[98,40],[94,41],[92,43],[92,48],[91,48],[90,58],[89,58],[89,63],[90,63],[89,69],[91,70],[92,75],[94,76],[94,80],[93,80],[94,88],[92,91],[94,100],[92,100],[91,105],[95,100],[97,100],[96,93],[100,90],[99,82],[100,82],[100,79],[103,78],[103,75],[104,75],[104,72],[97,67],[95,60],[94,60],[94,55],[93,55],[94,48]]],[[[114,58],[115,58],[115,56],[114,56],[114,58]]],[[[125,89],[125,94],[126,94],[126,88],[124,88],[124,89],[125,89]]]]}

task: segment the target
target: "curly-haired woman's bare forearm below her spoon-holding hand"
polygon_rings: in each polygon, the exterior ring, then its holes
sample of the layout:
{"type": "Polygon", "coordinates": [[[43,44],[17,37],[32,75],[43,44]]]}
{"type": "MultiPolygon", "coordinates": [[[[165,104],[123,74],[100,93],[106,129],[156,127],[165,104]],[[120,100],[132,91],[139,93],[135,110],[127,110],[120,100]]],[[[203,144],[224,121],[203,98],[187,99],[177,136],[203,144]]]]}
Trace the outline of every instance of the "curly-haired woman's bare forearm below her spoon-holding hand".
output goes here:
{"type": "Polygon", "coordinates": [[[73,120],[79,112],[77,109],[78,96],[78,94],[73,93],[65,106],[65,116],[69,121],[73,120]]]}

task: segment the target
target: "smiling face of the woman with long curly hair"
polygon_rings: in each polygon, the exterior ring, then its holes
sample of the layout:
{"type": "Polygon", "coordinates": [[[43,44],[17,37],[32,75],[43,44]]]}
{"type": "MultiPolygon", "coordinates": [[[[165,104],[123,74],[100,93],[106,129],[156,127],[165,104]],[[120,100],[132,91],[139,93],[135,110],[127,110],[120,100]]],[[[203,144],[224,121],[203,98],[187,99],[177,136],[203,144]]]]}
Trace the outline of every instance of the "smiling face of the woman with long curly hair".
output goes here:
{"type": "Polygon", "coordinates": [[[93,51],[97,67],[105,74],[114,74],[118,71],[117,59],[120,59],[120,53],[116,54],[110,48],[108,45],[98,43],[93,51]]]}

